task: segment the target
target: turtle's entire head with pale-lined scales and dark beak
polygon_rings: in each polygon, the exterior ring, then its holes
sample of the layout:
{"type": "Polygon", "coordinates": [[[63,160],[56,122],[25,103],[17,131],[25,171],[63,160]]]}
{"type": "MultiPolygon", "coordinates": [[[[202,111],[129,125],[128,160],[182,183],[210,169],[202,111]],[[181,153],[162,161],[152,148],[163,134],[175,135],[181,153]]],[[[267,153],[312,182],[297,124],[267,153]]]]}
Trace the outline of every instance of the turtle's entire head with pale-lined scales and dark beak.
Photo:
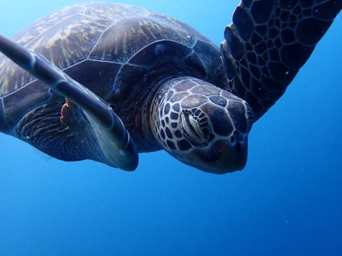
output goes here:
{"type": "Polygon", "coordinates": [[[245,167],[253,122],[245,101],[192,78],[169,81],[161,92],[154,104],[154,135],[169,154],[211,173],[245,167]]]}

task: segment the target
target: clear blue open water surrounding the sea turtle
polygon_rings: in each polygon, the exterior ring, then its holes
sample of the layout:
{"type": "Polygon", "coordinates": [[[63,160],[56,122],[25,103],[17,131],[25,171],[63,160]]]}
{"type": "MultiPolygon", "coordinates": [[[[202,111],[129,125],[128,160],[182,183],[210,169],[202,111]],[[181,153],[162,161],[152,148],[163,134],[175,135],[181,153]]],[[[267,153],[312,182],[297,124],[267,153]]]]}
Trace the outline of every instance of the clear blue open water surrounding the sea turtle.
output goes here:
{"type": "MultiPolygon", "coordinates": [[[[239,1],[121,2],[219,44],[239,1]]],[[[72,3],[0,0],[0,33],[72,3]]],[[[158,152],[126,173],[0,134],[0,256],[341,256],[341,15],[253,126],[242,172],[207,174],[158,152]]]]}

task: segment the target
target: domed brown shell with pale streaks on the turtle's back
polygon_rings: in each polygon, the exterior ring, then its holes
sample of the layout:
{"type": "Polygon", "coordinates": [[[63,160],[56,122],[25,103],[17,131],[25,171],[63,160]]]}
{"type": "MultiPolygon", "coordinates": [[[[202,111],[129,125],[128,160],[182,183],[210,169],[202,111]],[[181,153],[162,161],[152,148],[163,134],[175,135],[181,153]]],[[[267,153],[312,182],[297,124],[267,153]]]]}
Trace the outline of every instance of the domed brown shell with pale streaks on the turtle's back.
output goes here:
{"type": "MultiPolygon", "coordinates": [[[[148,83],[143,81],[165,62],[186,66],[193,76],[209,82],[224,76],[220,50],[209,39],[142,7],[101,2],[72,5],[38,19],[12,40],[41,53],[108,101],[124,101],[135,86],[145,90],[148,83]]],[[[0,116],[7,117],[9,126],[54,97],[54,92],[0,56],[0,116]]]]}

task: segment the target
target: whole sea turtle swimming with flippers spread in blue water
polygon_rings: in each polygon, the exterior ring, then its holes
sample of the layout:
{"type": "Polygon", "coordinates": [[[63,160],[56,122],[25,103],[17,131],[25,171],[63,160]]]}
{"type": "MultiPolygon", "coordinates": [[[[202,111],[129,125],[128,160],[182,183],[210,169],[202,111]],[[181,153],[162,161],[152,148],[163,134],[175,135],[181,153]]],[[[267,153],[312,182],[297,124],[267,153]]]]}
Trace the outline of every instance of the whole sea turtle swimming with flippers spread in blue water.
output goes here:
{"type": "Polygon", "coordinates": [[[220,49],[142,7],[65,7],[0,36],[0,51],[21,67],[0,57],[0,131],[58,159],[127,171],[138,153],[162,149],[203,171],[241,170],[252,124],[341,8],[342,0],[242,0],[220,49]]]}

